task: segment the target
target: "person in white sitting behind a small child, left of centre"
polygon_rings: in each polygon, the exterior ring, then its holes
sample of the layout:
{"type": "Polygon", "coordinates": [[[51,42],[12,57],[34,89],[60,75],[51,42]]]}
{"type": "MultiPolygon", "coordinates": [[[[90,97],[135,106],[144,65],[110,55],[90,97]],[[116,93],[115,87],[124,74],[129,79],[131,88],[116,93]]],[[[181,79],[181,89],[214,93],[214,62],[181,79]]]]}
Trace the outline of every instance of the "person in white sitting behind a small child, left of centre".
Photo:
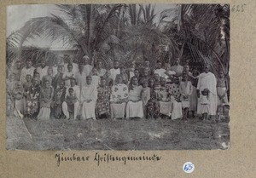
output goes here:
{"type": "MultiPolygon", "coordinates": [[[[74,103],[74,111],[73,111],[73,118],[76,119],[78,114],[79,114],[79,109],[80,109],[80,88],[78,85],[76,85],[76,80],[74,78],[70,79],[70,87],[67,87],[66,90],[66,96],[69,95],[68,89],[73,88],[73,92],[75,94],[75,96],[78,98],[78,101],[76,103],[74,103]]],[[[63,101],[62,102],[62,111],[64,113],[64,115],[66,116],[66,118],[68,119],[69,116],[69,112],[67,110],[67,102],[63,101]]]]}

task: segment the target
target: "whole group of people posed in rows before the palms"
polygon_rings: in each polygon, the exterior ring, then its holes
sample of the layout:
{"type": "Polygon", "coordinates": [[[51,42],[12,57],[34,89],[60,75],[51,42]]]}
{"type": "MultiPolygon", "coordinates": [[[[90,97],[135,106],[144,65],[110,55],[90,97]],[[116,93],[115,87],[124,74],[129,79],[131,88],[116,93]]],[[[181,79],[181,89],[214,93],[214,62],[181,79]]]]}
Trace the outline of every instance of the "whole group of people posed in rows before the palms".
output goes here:
{"type": "Polygon", "coordinates": [[[157,61],[154,69],[148,60],[142,67],[135,63],[104,69],[101,61],[91,65],[57,60],[46,66],[33,67],[31,60],[21,67],[20,60],[9,73],[7,80],[7,112],[19,117],[46,120],[49,118],[189,118],[197,115],[208,119],[221,116],[229,105],[227,82],[223,72],[218,79],[204,67],[201,74],[181,66],[157,61]],[[191,114],[190,114],[191,115],[191,114]],[[210,116],[210,117],[209,117],[210,116]]]}

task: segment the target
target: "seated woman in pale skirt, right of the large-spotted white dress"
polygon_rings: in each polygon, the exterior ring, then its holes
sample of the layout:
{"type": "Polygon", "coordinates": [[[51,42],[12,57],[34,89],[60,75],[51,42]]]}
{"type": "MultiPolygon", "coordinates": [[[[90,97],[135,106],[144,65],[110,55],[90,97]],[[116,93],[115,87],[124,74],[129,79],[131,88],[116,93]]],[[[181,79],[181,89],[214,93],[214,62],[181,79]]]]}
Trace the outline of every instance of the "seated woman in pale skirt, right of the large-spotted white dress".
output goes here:
{"type": "Polygon", "coordinates": [[[129,87],[126,118],[143,118],[142,91],[143,87],[138,85],[138,78],[133,77],[129,87]]]}

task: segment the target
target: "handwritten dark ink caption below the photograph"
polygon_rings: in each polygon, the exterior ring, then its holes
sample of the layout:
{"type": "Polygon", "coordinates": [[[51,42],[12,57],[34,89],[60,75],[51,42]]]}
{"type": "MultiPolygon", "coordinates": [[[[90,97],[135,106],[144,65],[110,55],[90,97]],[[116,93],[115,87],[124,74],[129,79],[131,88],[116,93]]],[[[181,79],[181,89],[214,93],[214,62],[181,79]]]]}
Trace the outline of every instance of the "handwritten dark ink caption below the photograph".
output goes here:
{"type": "Polygon", "coordinates": [[[101,164],[108,164],[108,163],[121,163],[121,164],[127,164],[128,162],[159,162],[161,159],[161,156],[157,154],[146,154],[143,152],[143,154],[134,156],[134,155],[122,155],[118,156],[112,153],[100,153],[96,152],[93,155],[77,155],[76,153],[73,154],[64,154],[64,152],[61,153],[55,153],[55,161],[58,167],[60,167],[62,162],[94,162],[97,166],[100,166],[101,164]]]}

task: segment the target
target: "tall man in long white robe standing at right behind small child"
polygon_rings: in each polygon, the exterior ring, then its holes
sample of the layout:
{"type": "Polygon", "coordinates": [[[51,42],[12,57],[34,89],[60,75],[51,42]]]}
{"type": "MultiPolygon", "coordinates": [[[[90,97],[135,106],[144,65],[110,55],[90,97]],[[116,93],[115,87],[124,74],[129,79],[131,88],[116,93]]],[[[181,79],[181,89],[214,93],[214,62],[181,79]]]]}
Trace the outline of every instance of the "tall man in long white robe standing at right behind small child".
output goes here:
{"type": "MultiPolygon", "coordinates": [[[[218,106],[218,95],[217,95],[217,81],[212,72],[209,72],[209,66],[205,66],[205,72],[201,73],[197,83],[197,96],[201,99],[201,91],[203,89],[209,89],[208,100],[210,102],[209,115],[215,116],[218,106]]],[[[201,114],[201,105],[197,107],[197,113],[201,114]]]]}

